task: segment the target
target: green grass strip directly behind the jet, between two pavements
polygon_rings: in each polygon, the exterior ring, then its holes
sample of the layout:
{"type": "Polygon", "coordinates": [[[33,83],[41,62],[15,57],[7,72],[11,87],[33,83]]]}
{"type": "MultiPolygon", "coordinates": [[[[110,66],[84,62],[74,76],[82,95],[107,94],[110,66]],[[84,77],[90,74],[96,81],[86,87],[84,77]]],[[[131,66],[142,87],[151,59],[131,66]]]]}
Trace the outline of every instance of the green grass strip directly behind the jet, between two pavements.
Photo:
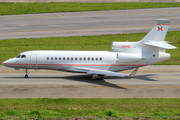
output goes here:
{"type": "MultiPolygon", "coordinates": [[[[111,51],[113,41],[139,41],[147,33],[116,34],[99,36],[31,38],[0,40],[0,63],[30,50],[100,50],[111,51]]],[[[172,45],[180,48],[180,31],[168,32],[166,41],[175,42],[172,45]]],[[[180,65],[180,49],[167,50],[171,59],[158,64],[180,65]]]]}

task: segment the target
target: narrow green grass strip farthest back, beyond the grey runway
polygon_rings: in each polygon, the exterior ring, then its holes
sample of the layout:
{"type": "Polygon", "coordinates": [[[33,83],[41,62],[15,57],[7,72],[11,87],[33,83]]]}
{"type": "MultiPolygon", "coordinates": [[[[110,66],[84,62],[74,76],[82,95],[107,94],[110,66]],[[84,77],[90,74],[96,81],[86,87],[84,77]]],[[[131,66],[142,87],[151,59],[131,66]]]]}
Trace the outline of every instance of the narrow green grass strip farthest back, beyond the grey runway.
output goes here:
{"type": "Polygon", "coordinates": [[[180,7],[180,3],[0,3],[0,15],[180,7]]]}

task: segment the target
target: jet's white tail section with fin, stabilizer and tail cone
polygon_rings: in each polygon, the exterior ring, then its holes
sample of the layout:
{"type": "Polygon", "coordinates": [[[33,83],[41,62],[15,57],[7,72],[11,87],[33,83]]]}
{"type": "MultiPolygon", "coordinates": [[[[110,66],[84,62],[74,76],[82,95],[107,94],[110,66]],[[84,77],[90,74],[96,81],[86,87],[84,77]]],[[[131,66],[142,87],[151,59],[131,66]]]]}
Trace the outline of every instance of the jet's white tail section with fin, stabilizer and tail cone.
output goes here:
{"type": "Polygon", "coordinates": [[[166,49],[176,49],[177,47],[168,44],[165,40],[169,19],[157,19],[158,24],[140,41],[143,43],[142,56],[149,64],[154,64],[170,59],[170,54],[166,49]]]}

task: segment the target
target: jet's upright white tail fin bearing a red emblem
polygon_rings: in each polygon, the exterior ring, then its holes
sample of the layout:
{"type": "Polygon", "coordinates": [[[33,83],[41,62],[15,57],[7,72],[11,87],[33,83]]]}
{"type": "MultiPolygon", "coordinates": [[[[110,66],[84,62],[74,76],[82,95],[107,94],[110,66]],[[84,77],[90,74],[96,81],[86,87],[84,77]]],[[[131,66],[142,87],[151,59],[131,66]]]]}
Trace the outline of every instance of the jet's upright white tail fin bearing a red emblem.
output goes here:
{"type": "Polygon", "coordinates": [[[169,19],[157,19],[158,24],[141,40],[143,42],[164,41],[169,28],[169,19]]]}

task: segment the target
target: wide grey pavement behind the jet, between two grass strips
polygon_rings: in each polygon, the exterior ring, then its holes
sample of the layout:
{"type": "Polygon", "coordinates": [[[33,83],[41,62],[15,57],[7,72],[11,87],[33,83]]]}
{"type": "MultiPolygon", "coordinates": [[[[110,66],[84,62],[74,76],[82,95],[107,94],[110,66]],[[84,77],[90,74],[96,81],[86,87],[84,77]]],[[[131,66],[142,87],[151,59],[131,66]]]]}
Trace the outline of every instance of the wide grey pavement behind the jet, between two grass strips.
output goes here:
{"type": "Polygon", "coordinates": [[[179,15],[180,7],[1,15],[0,39],[149,32],[155,19],[171,19],[169,31],[175,31],[179,15]]]}

